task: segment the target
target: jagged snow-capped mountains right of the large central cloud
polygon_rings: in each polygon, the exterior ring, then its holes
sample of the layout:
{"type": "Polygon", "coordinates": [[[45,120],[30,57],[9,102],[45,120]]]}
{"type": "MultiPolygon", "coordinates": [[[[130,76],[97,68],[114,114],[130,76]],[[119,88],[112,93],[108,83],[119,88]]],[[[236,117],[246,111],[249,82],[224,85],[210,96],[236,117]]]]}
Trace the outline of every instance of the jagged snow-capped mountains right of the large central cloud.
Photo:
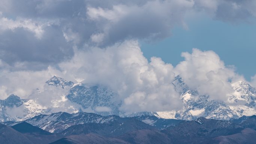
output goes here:
{"type": "Polygon", "coordinates": [[[197,91],[189,90],[179,76],[176,77],[173,84],[176,91],[180,92],[183,101],[183,109],[176,112],[176,119],[192,120],[202,116],[207,119],[229,120],[243,115],[256,114],[255,108],[253,108],[256,91],[246,82],[239,81],[232,84],[234,94],[226,103],[210,100],[207,95],[199,95],[197,91]]]}

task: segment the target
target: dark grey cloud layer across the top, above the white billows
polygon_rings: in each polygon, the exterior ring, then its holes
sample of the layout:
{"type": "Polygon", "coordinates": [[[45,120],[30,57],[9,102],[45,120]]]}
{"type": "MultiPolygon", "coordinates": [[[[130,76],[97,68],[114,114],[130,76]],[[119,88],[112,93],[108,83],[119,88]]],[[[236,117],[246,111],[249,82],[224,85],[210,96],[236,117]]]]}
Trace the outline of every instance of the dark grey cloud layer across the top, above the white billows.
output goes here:
{"type": "Polygon", "coordinates": [[[233,22],[255,17],[255,6],[254,0],[1,0],[0,59],[46,69],[72,58],[73,46],[164,39],[186,26],[188,13],[233,22]]]}

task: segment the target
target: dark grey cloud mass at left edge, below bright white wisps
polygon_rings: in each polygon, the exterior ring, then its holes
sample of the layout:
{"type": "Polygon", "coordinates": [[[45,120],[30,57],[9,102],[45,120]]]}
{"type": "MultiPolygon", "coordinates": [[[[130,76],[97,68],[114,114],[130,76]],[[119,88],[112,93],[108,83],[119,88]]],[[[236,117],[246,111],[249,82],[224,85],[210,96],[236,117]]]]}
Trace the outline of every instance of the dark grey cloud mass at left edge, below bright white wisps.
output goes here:
{"type": "Polygon", "coordinates": [[[24,28],[6,30],[0,34],[1,59],[12,65],[15,62],[60,62],[73,56],[72,45],[66,42],[57,26],[46,27],[41,39],[24,28]]]}

